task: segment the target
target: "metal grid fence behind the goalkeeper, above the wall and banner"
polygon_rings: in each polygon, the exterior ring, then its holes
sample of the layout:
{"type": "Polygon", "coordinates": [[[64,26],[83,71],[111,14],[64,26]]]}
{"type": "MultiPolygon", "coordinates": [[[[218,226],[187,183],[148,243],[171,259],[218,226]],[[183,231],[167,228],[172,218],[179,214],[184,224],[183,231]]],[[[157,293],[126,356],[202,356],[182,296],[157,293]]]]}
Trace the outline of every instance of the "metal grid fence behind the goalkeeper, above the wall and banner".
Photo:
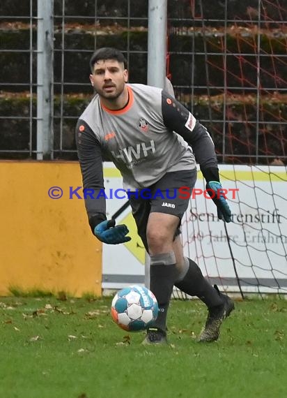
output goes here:
{"type": "MultiPolygon", "coordinates": [[[[92,52],[117,47],[130,82],[146,83],[148,0],[54,0],[51,52],[42,61],[39,1],[1,2],[0,156],[77,159],[92,52]],[[50,142],[40,141],[43,71],[53,76],[50,142]]],[[[219,161],[286,163],[286,20],[283,0],[168,1],[167,73],[178,99],[208,126],[219,161]]]]}

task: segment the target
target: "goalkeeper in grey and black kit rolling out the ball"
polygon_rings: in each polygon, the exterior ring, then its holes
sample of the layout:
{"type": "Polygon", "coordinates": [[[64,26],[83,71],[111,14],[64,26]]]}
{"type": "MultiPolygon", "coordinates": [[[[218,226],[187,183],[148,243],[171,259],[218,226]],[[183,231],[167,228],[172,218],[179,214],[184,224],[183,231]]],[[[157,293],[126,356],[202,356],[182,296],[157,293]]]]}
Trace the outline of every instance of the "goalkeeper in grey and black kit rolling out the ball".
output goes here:
{"type": "MultiPolygon", "coordinates": [[[[76,140],[82,170],[88,222],[106,244],[130,240],[125,225],[107,220],[102,161],[113,161],[129,193],[138,233],[150,255],[150,290],[160,307],[146,344],[166,343],[166,315],[173,286],[197,296],[208,307],[199,341],[215,341],[222,321],[234,308],[232,300],[205,280],[199,266],[183,255],[180,221],[189,199],[174,195],[196,182],[196,162],[208,189],[220,192],[215,148],[198,120],[167,91],[127,84],[123,54],[110,47],[97,50],[90,61],[95,96],[77,122],[76,140]],[[144,196],[144,190],[152,193],[144,196]],[[219,191],[218,191],[219,190],[219,191]],[[153,193],[161,192],[161,195],[153,193]]],[[[214,195],[212,195],[214,196],[214,195]]],[[[215,195],[219,219],[231,221],[224,195],[215,195]]]]}

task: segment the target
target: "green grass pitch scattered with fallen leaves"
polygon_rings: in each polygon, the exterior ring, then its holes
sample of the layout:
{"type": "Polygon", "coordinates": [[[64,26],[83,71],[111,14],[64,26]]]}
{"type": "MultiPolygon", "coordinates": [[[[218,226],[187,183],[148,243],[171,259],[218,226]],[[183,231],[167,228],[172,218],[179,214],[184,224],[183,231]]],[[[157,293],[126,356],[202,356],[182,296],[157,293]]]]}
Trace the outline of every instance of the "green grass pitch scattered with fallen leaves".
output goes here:
{"type": "Polygon", "coordinates": [[[286,397],[286,300],[237,302],[212,344],[203,304],[173,301],[170,346],[142,346],[110,302],[0,297],[0,397],[286,397]]]}

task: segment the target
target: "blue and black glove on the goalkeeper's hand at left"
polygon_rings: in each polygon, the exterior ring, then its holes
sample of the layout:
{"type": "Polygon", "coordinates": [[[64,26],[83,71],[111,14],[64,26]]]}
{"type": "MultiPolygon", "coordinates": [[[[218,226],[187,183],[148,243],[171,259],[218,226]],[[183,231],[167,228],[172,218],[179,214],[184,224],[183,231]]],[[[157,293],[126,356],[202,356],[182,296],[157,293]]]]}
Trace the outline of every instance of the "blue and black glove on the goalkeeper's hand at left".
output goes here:
{"type": "Polygon", "coordinates": [[[95,237],[107,244],[120,244],[129,242],[132,239],[127,235],[129,230],[125,224],[121,224],[120,226],[115,226],[116,220],[105,220],[102,221],[98,226],[95,226],[94,234],[95,237]]]}

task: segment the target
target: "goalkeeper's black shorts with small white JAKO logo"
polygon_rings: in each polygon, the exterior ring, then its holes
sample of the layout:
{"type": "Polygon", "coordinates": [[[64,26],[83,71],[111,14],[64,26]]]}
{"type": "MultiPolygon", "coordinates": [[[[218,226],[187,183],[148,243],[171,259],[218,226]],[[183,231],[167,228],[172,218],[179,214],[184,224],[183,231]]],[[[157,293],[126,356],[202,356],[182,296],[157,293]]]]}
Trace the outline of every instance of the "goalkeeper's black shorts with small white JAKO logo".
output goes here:
{"type": "Polygon", "coordinates": [[[178,216],[178,228],[175,236],[180,234],[180,221],[187,210],[189,198],[180,198],[180,187],[189,187],[190,191],[196,182],[196,169],[167,172],[164,177],[152,186],[137,192],[130,192],[129,199],[132,215],[137,223],[137,232],[148,251],[146,226],[150,213],[165,213],[178,216]]]}

